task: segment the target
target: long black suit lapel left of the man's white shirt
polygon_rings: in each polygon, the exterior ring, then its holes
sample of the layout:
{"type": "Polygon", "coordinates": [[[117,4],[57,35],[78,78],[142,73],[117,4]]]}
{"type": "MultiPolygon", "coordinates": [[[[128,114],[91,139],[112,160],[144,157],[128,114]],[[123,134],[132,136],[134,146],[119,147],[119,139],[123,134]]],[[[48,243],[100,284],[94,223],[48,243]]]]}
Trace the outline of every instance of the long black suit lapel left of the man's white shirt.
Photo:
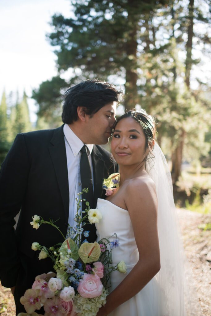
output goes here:
{"type": "Polygon", "coordinates": [[[63,126],[55,129],[53,137],[51,139],[51,145],[49,146],[49,152],[53,161],[53,166],[56,173],[56,178],[61,193],[65,218],[68,222],[69,216],[69,183],[68,183],[68,171],[67,171],[67,156],[65,149],[65,139],[63,133],[63,126]]]}

